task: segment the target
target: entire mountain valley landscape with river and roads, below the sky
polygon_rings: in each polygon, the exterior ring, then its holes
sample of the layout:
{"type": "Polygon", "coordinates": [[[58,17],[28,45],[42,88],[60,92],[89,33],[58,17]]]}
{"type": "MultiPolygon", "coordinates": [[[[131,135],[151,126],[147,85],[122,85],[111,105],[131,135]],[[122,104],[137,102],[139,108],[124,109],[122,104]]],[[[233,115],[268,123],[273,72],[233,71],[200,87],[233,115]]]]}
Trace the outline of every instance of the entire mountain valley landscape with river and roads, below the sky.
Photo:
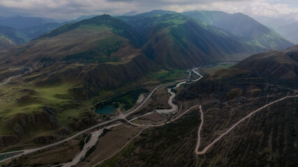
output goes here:
{"type": "Polygon", "coordinates": [[[298,46],[248,15],[0,25],[0,166],[298,165],[298,46]]]}

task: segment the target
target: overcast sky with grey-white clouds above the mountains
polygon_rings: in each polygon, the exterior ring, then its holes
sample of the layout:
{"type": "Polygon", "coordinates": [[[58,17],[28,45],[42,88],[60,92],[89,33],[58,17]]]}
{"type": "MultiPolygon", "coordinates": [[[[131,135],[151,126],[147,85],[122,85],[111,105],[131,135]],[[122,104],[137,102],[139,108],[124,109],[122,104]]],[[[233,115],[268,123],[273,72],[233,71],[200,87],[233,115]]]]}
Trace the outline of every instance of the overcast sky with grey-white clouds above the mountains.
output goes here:
{"type": "Polygon", "coordinates": [[[82,15],[122,15],[154,9],[184,12],[222,10],[228,13],[298,19],[297,0],[0,0],[0,16],[75,19],[82,15]]]}

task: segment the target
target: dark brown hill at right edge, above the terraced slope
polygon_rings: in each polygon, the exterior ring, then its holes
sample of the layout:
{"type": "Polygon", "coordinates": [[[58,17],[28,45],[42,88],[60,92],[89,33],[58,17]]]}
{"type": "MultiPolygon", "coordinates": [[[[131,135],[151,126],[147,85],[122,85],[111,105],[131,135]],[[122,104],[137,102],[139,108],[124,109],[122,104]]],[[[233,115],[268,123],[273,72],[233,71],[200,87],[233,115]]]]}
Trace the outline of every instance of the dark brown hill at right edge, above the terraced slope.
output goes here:
{"type": "Polygon", "coordinates": [[[234,67],[251,70],[279,82],[298,81],[298,45],[283,51],[270,50],[255,54],[234,67]]]}

